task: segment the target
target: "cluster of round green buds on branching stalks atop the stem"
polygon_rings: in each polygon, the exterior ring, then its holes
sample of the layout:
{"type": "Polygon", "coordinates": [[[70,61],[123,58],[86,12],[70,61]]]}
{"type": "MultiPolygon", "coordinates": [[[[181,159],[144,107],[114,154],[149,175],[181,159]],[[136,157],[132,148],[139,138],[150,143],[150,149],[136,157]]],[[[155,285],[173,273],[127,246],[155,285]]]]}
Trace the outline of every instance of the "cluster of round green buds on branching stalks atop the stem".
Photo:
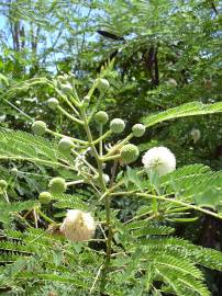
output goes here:
{"type": "Polygon", "coordinates": [[[51,130],[43,121],[36,121],[32,124],[32,132],[34,135],[44,136],[44,134],[48,133],[58,138],[58,151],[62,156],[69,153],[75,157],[71,169],[76,170],[77,177],[81,178],[81,180],[73,182],[66,182],[62,177],[53,178],[48,183],[47,191],[44,191],[38,195],[41,204],[49,204],[53,196],[65,193],[70,184],[76,184],[80,181],[82,181],[82,183],[92,182],[96,186],[99,184],[108,186],[111,181],[110,175],[104,172],[106,162],[115,160],[119,161],[120,164],[127,166],[137,160],[140,156],[138,148],[136,145],[130,143],[130,140],[133,137],[142,137],[145,134],[145,126],[143,124],[135,124],[129,136],[118,141],[114,146],[109,146],[109,144],[106,145],[106,141],[110,136],[120,135],[125,130],[126,123],[118,117],[110,119],[108,113],[103,110],[97,111],[99,103],[96,104],[97,107],[90,106],[90,101],[96,89],[99,90],[99,98],[101,98],[109,88],[110,83],[107,79],[98,78],[95,80],[89,92],[80,100],[75,88],[74,77],[68,75],[57,77],[55,83],[57,98],[52,96],[47,99],[46,104],[52,111],[57,110],[67,118],[74,121],[75,124],[78,124],[84,128],[87,139],[80,140],[73,136],[55,133],[51,130]],[[64,104],[67,104],[69,112],[63,107],[64,104]],[[99,130],[99,136],[96,139],[93,139],[89,127],[91,118],[93,118],[98,127],[97,130],[99,130]],[[104,130],[106,128],[107,132],[104,130]],[[92,160],[92,158],[95,158],[96,161],[92,160]],[[95,163],[98,166],[95,166],[95,163]]]}

